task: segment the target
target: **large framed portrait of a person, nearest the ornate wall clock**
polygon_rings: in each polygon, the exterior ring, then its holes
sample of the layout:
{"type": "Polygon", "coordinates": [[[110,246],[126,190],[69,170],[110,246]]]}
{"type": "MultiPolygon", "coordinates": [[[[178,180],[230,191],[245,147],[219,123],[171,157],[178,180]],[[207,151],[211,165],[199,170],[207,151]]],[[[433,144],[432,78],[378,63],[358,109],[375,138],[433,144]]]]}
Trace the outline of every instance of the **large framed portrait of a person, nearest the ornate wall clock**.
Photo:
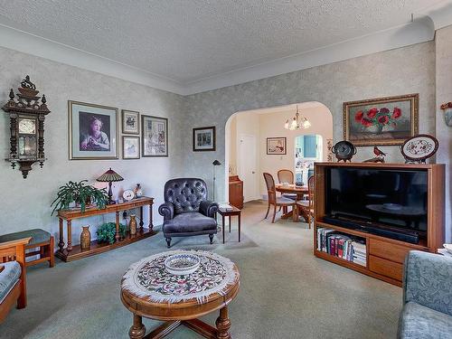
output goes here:
{"type": "Polygon", "coordinates": [[[68,101],[70,160],[118,159],[118,108],[68,101]]]}

